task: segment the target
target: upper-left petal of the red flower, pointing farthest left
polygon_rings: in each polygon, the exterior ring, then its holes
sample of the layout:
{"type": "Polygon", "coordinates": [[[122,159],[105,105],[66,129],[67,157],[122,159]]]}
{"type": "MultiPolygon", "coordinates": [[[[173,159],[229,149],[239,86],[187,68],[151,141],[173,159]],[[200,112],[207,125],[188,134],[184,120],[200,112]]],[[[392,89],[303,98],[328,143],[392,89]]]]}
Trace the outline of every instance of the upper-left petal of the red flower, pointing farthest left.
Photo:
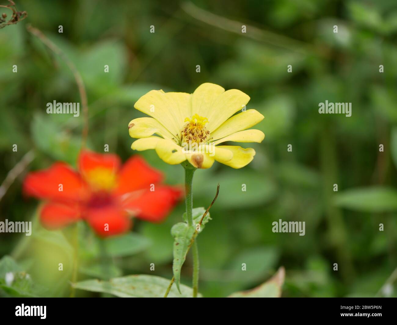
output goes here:
{"type": "Polygon", "coordinates": [[[23,182],[23,191],[39,199],[54,201],[81,201],[87,197],[87,187],[79,174],[62,162],[29,173],[23,182]]]}

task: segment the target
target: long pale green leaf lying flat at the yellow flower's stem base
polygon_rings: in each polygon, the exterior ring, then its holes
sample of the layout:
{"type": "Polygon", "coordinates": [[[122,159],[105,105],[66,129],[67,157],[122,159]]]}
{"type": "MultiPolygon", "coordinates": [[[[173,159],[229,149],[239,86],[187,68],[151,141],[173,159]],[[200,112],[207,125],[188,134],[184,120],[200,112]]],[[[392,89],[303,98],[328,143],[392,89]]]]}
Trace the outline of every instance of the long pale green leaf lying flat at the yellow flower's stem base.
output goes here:
{"type": "MultiPolygon", "coordinates": [[[[155,275],[127,275],[117,277],[110,281],[98,279],[80,281],[73,284],[76,289],[106,292],[124,298],[162,298],[170,285],[170,280],[155,275]]],[[[181,294],[172,287],[169,298],[189,298],[193,296],[193,290],[186,285],[180,286],[181,294]]],[[[201,296],[201,295],[200,295],[201,296]]]]}

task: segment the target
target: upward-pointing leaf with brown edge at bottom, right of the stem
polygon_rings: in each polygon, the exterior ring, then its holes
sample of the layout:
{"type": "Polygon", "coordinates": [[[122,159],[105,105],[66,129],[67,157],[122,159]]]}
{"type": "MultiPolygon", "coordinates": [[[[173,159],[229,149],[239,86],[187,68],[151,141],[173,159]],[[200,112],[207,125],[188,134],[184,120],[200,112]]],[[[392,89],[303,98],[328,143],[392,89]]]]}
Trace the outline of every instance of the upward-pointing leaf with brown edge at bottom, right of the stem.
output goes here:
{"type": "Polygon", "coordinates": [[[284,278],[285,270],[281,267],[270,280],[262,283],[259,287],[232,293],[228,298],[279,298],[284,278]]]}

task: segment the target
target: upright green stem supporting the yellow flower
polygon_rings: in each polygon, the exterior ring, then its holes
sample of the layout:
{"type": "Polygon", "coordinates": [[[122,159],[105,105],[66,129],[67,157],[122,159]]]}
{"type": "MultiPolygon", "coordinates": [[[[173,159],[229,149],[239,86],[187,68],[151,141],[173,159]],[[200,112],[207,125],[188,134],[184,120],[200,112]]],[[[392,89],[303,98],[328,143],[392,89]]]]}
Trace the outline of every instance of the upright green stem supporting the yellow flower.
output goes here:
{"type": "MultiPolygon", "coordinates": [[[[193,225],[193,174],[196,170],[193,166],[183,165],[185,168],[185,191],[186,191],[186,216],[187,224],[194,227],[193,225]]],[[[197,297],[198,291],[198,247],[196,241],[193,243],[193,298],[197,297]]]]}

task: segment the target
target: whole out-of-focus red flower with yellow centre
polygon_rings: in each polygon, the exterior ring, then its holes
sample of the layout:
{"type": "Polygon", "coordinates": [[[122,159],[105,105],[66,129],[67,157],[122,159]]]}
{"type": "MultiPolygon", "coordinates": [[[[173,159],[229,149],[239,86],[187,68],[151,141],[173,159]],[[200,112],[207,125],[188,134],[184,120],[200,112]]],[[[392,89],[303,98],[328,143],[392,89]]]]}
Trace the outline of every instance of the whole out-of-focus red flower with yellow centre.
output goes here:
{"type": "Polygon", "coordinates": [[[79,172],[56,162],[28,174],[23,191],[48,200],[40,211],[48,229],[83,219],[98,235],[109,236],[130,229],[131,216],[163,220],[181,197],[181,189],[162,185],[162,174],[139,156],[120,165],[117,155],[82,151],[79,172]]]}

